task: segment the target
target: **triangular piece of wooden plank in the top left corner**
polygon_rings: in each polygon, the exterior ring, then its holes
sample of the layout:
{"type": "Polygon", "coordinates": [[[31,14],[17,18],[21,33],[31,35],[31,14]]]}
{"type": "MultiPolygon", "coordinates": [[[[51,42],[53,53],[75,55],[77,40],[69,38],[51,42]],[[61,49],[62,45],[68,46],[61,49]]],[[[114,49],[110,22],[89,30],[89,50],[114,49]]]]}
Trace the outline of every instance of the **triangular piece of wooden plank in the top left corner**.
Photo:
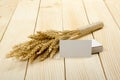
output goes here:
{"type": "Polygon", "coordinates": [[[0,0],[0,41],[19,0],[0,0]]]}

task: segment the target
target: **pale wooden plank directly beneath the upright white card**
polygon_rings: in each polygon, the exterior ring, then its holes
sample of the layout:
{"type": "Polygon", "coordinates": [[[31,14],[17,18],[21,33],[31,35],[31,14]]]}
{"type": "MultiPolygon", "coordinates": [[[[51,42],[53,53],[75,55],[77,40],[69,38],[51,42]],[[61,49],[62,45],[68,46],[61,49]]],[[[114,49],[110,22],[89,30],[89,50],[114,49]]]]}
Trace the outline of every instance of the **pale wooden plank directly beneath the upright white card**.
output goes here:
{"type": "MultiPolygon", "coordinates": [[[[64,29],[79,29],[88,25],[82,0],[63,0],[64,29]]],[[[92,39],[87,35],[81,39],[92,39]]],[[[88,58],[66,58],[66,80],[105,80],[98,54],[88,58]]]]}

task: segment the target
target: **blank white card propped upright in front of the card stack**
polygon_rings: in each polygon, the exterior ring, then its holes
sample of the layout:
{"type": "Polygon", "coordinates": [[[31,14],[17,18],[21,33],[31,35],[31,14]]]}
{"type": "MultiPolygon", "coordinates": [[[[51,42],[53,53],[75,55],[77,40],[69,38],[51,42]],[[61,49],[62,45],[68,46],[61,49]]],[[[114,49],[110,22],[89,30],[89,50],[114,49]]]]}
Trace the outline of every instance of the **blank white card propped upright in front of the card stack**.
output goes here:
{"type": "Polygon", "coordinates": [[[91,40],[60,40],[61,57],[91,56],[91,40]]]}

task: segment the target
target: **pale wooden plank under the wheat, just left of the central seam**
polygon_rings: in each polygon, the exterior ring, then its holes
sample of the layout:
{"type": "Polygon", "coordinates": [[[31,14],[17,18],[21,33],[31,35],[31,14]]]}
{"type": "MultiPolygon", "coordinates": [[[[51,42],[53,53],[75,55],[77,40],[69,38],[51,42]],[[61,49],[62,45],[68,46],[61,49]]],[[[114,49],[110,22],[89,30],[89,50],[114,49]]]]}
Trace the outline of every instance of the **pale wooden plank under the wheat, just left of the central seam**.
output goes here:
{"type": "MultiPolygon", "coordinates": [[[[42,0],[36,31],[62,30],[61,0],[42,0]]],[[[26,80],[64,80],[64,60],[47,59],[28,65],[26,80]]]]}

